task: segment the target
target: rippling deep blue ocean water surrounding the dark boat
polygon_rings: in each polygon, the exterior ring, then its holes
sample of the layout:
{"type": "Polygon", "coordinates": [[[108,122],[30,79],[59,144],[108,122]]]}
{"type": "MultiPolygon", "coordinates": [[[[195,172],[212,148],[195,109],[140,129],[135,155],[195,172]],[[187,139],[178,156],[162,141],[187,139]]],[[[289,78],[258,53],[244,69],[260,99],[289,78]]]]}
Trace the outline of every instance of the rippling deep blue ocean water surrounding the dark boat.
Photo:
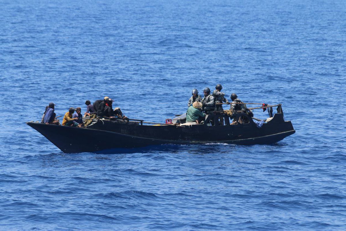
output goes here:
{"type": "Polygon", "coordinates": [[[0,1],[0,229],[346,230],[345,22],[342,0],[0,1]],[[65,154],[25,124],[104,96],[162,123],[218,83],[296,133],[65,154]]]}

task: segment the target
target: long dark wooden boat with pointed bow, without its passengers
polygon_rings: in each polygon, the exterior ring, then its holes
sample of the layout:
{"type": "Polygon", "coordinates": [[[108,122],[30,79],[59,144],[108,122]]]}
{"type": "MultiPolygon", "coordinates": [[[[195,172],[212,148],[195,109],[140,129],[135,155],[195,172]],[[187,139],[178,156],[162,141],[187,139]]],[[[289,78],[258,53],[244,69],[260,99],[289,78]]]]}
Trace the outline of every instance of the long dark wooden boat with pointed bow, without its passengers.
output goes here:
{"type": "Polygon", "coordinates": [[[281,104],[272,119],[257,127],[244,112],[210,113],[203,124],[155,124],[130,119],[93,119],[85,128],[27,122],[65,153],[99,152],[114,148],[138,148],[160,144],[228,143],[273,144],[295,133],[291,121],[284,121],[281,104]],[[217,121],[223,117],[224,123],[217,121]],[[233,121],[239,123],[233,124],[233,121]],[[241,123],[241,121],[245,121],[241,123]]]}

